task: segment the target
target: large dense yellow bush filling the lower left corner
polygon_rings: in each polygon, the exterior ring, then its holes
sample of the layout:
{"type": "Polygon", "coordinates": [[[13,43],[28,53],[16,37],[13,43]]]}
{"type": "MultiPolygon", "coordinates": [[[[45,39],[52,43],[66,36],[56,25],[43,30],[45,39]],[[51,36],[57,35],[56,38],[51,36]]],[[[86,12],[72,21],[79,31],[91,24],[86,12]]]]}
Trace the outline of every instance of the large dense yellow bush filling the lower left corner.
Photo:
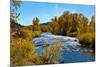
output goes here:
{"type": "Polygon", "coordinates": [[[35,47],[30,40],[27,39],[11,39],[10,45],[11,65],[28,65],[33,64],[35,55],[35,47]]]}

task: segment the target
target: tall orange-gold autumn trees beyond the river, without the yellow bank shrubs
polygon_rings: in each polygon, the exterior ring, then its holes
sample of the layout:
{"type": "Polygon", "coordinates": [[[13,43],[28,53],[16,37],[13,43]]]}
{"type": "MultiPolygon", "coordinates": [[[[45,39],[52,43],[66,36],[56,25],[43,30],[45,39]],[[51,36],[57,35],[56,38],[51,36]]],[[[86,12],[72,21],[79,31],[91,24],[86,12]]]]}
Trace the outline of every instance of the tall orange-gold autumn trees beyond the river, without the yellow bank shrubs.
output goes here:
{"type": "Polygon", "coordinates": [[[52,32],[67,36],[77,36],[82,33],[95,31],[95,17],[88,18],[82,14],[65,11],[60,17],[51,19],[48,25],[40,25],[39,18],[33,19],[33,30],[41,32],[52,32]]]}

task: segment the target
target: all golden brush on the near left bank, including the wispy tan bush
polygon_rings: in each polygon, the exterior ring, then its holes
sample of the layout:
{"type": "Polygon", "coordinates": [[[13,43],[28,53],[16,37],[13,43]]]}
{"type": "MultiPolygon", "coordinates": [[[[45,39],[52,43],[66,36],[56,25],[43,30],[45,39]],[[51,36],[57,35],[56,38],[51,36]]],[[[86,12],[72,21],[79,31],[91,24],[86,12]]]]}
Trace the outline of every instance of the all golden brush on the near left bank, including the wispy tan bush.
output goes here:
{"type": "Polygon", "coordinates": [[[10,44],[10,62],[11,65],[30,65],[30,64],[53,64],[57,61],[60,51],[61,43],[57,41],[53,46],[48,45],[42,56],[37,55],[34,44],[32,43],[33,36],[40,36],[38,31],[32,32],[30,30],[23,30],[25,37],[18,37],[17,33],[11,33],[10,44]],[[13,37],[16,36],[16,37],[13,37]]]}

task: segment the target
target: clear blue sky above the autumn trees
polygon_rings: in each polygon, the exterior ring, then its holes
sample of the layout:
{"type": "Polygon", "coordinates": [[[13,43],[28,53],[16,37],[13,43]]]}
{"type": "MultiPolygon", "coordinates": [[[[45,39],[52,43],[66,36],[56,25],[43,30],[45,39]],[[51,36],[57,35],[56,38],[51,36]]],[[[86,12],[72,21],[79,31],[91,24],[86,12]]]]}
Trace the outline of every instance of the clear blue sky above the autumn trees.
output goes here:
{"type": "Polygon", "coordinates": [[[82,13],[89,20],[95,15],[95,6],[93,5],[74,5],[59,3],[41,3],[23,1],[20,7],[20,21],[22,25],[32,24],[32,19],[38,17],[40,23],[46,23],[54,16],[60,16],[65,10],[72,13],[82,13]]]}

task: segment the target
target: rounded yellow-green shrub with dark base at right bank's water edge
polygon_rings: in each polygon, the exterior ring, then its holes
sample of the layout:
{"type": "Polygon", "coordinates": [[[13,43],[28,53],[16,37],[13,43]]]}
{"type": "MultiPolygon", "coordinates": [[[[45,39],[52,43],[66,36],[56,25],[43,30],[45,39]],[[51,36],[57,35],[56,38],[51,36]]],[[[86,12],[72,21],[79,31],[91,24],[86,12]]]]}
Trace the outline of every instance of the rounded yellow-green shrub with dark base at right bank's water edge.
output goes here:
{"type": "Polygon", "coordinates": [[[89,48],[94,48],[95,46],[95,33],[94,32],[84,33],[84,34],[78,35],[77,37],[82,45],[87,46],[89,48]]]}

